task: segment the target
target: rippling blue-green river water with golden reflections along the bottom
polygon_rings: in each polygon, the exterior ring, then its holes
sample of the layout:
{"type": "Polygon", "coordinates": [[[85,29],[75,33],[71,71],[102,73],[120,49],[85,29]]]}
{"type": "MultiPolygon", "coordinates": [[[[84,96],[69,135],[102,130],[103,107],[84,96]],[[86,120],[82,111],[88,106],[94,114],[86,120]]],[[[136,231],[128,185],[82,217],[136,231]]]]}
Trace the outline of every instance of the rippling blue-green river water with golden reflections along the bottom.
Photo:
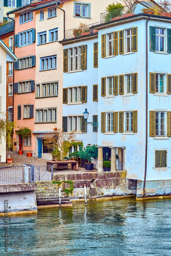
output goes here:
{"type": "Polygon", "coordinates": [[[171,200],[75,202],[0,218],[0,255],[171,255],[171,200]],[[4,252],[5,226],[8,252],[4,252]]]}

